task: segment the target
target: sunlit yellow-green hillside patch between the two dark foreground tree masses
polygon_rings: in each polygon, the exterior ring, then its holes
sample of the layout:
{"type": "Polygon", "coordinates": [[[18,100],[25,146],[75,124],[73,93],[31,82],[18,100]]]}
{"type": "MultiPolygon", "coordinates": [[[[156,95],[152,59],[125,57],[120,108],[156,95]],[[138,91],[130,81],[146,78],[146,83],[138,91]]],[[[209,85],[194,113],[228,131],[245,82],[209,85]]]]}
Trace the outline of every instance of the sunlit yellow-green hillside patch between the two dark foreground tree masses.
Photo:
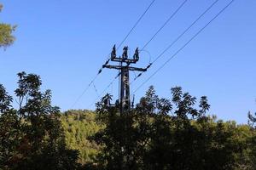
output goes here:
{"type": "Polygon", "coordinates": [[[61,115],[67,146],[79,150],[79,163],[91,163],[99,151],[99,146],[90,142],[88,137],[94,135],[102,126],[96,123],[96,114],[92,111],[66,111],[61,115]]]}

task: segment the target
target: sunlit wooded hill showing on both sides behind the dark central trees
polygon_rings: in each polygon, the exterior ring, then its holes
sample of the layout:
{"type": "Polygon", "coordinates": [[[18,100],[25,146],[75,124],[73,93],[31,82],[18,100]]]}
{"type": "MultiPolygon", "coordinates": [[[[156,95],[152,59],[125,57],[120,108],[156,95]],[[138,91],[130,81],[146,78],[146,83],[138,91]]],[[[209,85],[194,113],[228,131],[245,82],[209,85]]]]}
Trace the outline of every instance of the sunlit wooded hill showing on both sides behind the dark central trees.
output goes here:
{"type": "MultiPolygon", "coordinates": [[[[96,112],[88,110],[66,111],[61,114],[61,123],[64,127],[67,146],[70,149],[79,150],[79,163],[83,165],[92,163],[96,159],[96,155],[100,153],[100,147],[89,139],[90,136],[95,135],[96,132],[104,127],[99,122],[96,122],[96,112]]],[[[234,169],[254,168],[252,159],[253,147],[249,144],[253,136],[255,138],[256,135],[252,131],[252,127],[247,124],[238,125],[235,121],[223,122],[218,120],[216,116],[208,116],[207,128],[202,127],[202,124],[196,121],[192,121],[191,125],[201,131],[207,130],[207,138],[217,138],[215,141],[212,140],[213,148],[230,148],[229,152],[232,152],[230,155],[233,155],[233,159],[235,159],[234,169]],[[224,135],[227,134],[229,135],[228,139],[224,139],[224,135]],[[232,147],[235,144],[240,148],[238,147],[236,148],[237,150],[233,150],[234,148],[232,149],[232,147]]],[[[208,150],[207,148],[205,149],[208,150]]],[[[215,156],[216,158],[218,156],[224,157],[225,153],[221,151],[215,152],[215,156]]]]}

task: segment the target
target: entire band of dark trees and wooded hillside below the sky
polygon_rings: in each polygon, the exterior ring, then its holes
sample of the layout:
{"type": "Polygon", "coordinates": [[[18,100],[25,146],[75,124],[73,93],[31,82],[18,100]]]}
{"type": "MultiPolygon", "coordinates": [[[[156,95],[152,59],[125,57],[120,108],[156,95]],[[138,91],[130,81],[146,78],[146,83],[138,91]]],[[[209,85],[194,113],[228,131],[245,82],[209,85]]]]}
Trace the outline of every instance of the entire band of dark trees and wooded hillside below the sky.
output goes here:
{"type": "Polygon", "coordinates": [[[256,169],[251,113],[248,125],[223,122],[207,116],[205,96],[172,88],[161,99],[150,87],[123,114],[110,95],[96,112],[61,114],[40,77],[18,77],[15,98],[0,85],[0,169],[256,169]]]}

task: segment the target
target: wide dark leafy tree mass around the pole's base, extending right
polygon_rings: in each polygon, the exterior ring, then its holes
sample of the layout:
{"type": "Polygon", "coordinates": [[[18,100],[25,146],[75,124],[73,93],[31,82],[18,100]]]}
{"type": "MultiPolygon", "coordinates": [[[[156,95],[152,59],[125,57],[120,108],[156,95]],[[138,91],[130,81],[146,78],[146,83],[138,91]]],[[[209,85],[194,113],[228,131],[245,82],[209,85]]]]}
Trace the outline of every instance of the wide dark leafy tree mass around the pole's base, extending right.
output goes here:
{"type": "MultiPolygon", "coordinates": [[[[172,88],[172,99],[160,99],[150,87],[136,108],[97,104],[98,121],[106,128],[91,139],[102,145],[102,169],[239,169],[248,167],[246,129],[235,122],[206,116],[207,97],[196,98],[172,88]],[[240,130],[239,130],[240,129],[240,130]]],[[[103,98],[104,99],[104,98],[103,98]]]]}

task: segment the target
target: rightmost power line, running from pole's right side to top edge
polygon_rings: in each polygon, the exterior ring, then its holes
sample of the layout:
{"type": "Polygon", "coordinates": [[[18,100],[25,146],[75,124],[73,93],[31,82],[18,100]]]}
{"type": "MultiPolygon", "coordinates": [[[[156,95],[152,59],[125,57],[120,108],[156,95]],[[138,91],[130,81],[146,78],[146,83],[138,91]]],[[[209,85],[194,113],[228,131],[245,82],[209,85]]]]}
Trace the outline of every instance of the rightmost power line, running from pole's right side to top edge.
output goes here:
{"type": "Polygon", "coordinates": [[[234,3],[234,1],[235,1],[235,0],[230,1],[230,3],[228,3],[224,8],[222,8],[222,10],[220,10],[220,11],[218,12],[218,14],[216,14],[216,15],[212,18],[212,20],[210,20],[210,21],[207,23],[206,26],[202,27],[200,31],[197,31],[197,33],[196,33],[193,37],[191,37],[191,38],[189,39],[189,41],[186,42],[186,43],[183,45],[182,48],[179,48],[175,54],[173,54],[169,59],[167,59],[166,62],[165,62],[163,65],[161,65],[156,71],[154,71],[154,73],[153,73],[150,77],[148,77],[148,79],[147,79],[146,81],[144,81],[138,88],[136,88],[136,90],[135,90],[133,93],[137,92],[137,90],[138,90],[139,88],[142,88],[143,85],[144,85],[146,82],[148,82],[148,80],[150,80],[152,77],[154,77],[154,75],[155,75],[158,71],[160,71],[168,62],[170,62],[170,60],[173,59],[179,52],[181,52],[181,51],[183,50],[183,48],[185,48],[186,46],[188,46],[189,43],[192,42],[192,41],[195,39],[195,37],[197,37],[197,36],[201,33],[201,31],[203,31],[205,28],[207,28],[207,26],[209,26],[209,25],[212,23],[213,20],[215,20],[220,14],[222,14],[222,13],[224,12],[224,10],[225,10],[226,8],[228,8],[228,7],[231,5],[231,3],[234,3]]]}

